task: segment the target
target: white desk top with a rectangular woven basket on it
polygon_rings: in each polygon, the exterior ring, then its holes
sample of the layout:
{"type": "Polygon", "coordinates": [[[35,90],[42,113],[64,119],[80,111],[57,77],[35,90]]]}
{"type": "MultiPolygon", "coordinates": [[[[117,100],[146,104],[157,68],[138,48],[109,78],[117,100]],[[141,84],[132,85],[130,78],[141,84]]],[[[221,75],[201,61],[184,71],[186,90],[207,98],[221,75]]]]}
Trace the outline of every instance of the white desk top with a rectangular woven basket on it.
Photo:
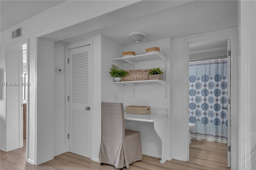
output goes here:
{"type": "Polygon", "coordinates": [[[124,113],[125,120],[142,121],[142,122],[156,122],[165,117],[167,117],[167,115],[164,115],[164,114],[150,113],[148,115],[140,115],[140,114],[124,113]]]}

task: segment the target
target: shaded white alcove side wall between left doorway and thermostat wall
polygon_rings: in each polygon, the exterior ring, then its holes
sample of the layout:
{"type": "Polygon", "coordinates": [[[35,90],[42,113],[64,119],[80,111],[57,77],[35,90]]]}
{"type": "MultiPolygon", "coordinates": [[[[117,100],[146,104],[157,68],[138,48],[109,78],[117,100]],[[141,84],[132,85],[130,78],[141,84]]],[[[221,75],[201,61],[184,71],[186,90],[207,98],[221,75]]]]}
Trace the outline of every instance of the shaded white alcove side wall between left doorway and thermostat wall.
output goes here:
{"type": "Polygon", "coordinates": [[[54,43],[37,41],[36,162],[54,158],[54,43]]]}

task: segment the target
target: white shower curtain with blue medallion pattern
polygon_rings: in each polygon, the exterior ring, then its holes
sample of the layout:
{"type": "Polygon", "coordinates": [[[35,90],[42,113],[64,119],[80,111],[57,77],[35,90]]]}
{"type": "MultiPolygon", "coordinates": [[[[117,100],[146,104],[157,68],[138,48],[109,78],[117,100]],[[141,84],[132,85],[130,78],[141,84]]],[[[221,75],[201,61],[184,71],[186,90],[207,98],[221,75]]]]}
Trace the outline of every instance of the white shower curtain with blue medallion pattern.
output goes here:
{"type": "Polygon", "coordinates": [[[228,59],[189,63],[189,122],[192,138],[227,143],[228,59]]]}

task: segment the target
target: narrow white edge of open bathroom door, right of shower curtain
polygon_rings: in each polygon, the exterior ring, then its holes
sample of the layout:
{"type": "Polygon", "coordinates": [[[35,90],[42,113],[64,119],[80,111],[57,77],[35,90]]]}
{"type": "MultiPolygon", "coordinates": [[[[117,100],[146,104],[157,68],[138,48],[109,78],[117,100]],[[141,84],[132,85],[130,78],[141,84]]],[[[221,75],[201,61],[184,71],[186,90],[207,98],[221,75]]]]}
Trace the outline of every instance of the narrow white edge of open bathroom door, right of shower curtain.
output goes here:
{"type": "Polygon", "coordinates": [[[230,138],[231,138],[231,132],[230,132],[230,118],[231,118],[231,40],[228,39],[228,168],[230,168],[230,138]]]}

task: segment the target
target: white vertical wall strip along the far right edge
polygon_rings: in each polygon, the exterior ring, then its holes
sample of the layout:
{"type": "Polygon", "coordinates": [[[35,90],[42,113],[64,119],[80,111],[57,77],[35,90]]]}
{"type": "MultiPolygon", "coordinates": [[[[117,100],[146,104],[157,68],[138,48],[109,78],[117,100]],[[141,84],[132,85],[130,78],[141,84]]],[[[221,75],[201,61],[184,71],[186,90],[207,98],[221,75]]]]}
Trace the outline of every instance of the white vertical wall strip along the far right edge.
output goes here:
{"type": "Polygon", "coordinates": [[[256,1],[239,1],[238,169],[256,169],[256,1]]]}

